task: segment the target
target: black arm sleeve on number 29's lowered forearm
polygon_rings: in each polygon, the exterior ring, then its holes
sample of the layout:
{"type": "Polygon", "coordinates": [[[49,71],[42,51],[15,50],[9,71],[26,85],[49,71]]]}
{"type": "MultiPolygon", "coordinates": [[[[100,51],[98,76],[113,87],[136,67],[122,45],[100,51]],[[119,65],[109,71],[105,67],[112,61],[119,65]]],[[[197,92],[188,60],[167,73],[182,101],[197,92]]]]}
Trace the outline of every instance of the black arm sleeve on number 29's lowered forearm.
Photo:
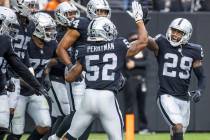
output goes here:
{"type": "Polygon", "coordinates": [[[206,77],[204,75],[203,66],[196,67],[193,69],[193,71],[198,79],[198,89],[203,91],[206,84],[206,77]]]}

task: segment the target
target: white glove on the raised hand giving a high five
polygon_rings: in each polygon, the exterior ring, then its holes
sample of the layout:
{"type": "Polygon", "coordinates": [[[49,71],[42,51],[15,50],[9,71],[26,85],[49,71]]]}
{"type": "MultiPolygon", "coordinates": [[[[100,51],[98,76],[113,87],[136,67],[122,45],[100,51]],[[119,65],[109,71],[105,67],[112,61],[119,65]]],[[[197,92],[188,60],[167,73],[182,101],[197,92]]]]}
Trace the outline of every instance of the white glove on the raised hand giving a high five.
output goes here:
{"type": "Polygon", "coordinates": [[[141,4],[135,0],[132,2],[132,14],[136,22],[139,22],[143,19],[143,11],[141,4]]]}

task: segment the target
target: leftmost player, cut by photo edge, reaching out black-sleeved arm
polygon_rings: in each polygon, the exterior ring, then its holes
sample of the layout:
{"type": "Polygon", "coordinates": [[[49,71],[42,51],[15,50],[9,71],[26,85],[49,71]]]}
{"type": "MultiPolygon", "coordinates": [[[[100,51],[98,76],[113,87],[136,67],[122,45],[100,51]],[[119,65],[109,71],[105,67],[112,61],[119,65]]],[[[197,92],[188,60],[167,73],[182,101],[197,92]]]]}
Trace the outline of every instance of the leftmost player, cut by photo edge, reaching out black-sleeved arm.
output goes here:
{"type": "Polygon", "coordinates": [[[5,89],[6,64],[8,63],[34,89],[33,93],[41,95],[46,94],[46,91],[13,51],[10,38],[15,38],[18,34],[19,26],[15,13],[9,8],[0,7],[0,21],[0,40],[2,43],[0,45],[0,139],[3,140],[8,130],[10,114],[8,96],[5,89]]]}

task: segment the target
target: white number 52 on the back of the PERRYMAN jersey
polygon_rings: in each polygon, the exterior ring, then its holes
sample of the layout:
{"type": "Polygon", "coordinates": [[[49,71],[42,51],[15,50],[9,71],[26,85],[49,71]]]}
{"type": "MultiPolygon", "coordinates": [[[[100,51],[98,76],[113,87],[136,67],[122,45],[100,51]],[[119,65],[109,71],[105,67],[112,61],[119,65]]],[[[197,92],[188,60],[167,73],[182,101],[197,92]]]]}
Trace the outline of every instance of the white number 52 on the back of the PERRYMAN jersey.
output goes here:
{"type": "MultiPolygon", "coordinates": [[[[86,78],[88,81],[96,81],[99,79],[100,68],[96,65],[91,66],[91,62],[99,61],[99,55],[88,55],[86,59],[86,78]]],[[[102,67],[102,80],[114,81],[115,73],[114,70],[117,67],[117,56],[114,53],[108,53],[103,56],[103,62],[109,63],[102,67]]]]}

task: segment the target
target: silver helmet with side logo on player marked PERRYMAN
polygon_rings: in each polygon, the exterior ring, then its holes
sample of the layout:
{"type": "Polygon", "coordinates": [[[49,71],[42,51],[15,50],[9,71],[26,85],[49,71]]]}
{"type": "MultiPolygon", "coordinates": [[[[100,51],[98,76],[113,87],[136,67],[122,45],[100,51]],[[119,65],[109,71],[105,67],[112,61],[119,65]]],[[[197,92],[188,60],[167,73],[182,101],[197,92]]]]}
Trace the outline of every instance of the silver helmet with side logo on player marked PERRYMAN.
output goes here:
{"type": "Polygon", "coordinates": [[[88,41],[112,41],[117,38],[117,29],[110,19],[98,17],[88,26],[88,41]]]}

